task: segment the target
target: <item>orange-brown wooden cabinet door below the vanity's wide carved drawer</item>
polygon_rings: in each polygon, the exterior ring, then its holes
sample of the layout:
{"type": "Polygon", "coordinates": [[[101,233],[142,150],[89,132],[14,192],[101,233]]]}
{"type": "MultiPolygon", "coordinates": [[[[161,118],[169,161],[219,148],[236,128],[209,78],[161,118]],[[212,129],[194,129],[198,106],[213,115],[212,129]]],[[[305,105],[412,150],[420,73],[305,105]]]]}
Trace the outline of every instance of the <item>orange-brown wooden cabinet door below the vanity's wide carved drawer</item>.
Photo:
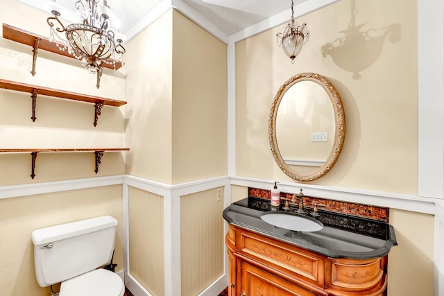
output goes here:
{"type": "Polygon", "coordinates": [[[240,261],[240,270],[240,296],[316,296],[245,261],[240,261]]]}

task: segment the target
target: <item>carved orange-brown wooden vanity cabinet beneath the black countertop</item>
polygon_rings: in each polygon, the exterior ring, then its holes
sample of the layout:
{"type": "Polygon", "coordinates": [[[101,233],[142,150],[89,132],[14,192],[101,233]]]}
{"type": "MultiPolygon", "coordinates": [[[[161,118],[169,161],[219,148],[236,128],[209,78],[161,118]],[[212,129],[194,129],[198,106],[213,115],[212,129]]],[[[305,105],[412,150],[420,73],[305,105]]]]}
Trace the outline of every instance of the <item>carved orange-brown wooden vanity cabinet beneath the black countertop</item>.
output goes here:
{"type": "Polygon", "coordinates": [[[334,259],[230,225],[230,296],[384,296],[386,256],[334,259]]]}

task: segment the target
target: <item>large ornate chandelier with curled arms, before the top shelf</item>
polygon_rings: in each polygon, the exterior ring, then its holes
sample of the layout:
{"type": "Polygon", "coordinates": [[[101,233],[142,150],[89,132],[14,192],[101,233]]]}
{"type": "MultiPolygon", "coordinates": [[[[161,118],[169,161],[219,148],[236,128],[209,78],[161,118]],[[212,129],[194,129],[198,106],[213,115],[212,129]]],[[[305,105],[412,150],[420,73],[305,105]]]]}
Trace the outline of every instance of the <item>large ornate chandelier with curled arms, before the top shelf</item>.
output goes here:
{"type": "Polygon", "coordinates": [[[74,6],[79,17],[78,24],[63,26],[60,17],[60,8],[56,2],[52,3],[51,13],[46,21],[50,26],[50,42],[62,42],[66,46],[57,46],[60,50],[69,53],[80,60],[89,73],[96,73],[96,87],[100,87],[103,64],[123,64],[125,48],[121,45],[123,37],[117,37],[117,19],[112,14],[107,0],[77,0],[74,6]],[[65,35],[60,35],[65,33],[65,35]],[[111,61],[108,61],[111,59],[111,61]]]}

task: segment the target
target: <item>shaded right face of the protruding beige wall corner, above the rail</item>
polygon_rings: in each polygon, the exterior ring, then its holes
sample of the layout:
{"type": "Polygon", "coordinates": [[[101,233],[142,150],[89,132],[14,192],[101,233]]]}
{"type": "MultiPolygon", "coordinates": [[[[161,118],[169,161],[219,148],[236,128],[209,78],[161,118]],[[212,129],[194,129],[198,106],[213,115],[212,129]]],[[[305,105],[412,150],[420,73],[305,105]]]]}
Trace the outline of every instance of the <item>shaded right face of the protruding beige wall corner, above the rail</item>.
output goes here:
{"type": "Polygon", "coordinates": [[[227,46],[173,14],[173,183],[227,174],[227,46]]]}

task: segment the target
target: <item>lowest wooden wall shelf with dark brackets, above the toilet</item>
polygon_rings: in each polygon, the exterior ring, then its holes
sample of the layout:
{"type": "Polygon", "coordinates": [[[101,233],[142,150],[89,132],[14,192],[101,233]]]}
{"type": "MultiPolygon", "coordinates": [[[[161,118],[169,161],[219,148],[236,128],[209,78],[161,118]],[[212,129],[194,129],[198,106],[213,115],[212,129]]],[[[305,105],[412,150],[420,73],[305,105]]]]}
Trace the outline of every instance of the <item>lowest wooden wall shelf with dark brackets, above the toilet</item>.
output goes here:
{"type": "Polygon", "coordinates": [[[31,152],[31,179],[35,177],[35,159],[37,159],[37,153],[40,152],[94,152],[96,159],[96,169],[94,172],[99,173],[99,164],[101,164],[101,158],[105,151],[128,151],[130,148],[40,148],[40,149],[0,149],[0,153],[29,153],[31,152]]]}

